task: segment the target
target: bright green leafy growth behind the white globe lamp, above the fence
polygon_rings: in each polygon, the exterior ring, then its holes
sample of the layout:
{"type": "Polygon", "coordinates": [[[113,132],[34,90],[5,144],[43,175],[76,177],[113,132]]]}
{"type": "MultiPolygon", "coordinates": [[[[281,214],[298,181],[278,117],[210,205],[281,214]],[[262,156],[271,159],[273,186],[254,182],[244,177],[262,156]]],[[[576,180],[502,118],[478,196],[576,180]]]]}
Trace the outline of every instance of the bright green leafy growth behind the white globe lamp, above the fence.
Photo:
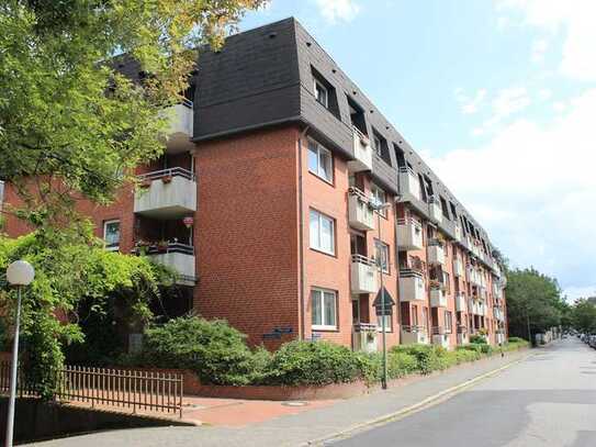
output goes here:
{"type": "Polygon", "coordinates": [[[85,340],[79,324],[83,303],[102,314],[117,297],[132,319],[146,323],[153,316],[149,303],[160,297],[159,286],[172,280],[145,257],[106,252],[89,227],[83,233],[41,228],[16,239],[0,235],[0,308],[9,324],[14,321],[15,291],[7,283],[5,269],[15,259],[35,268],[35,280],[23,290],[22,359],[27,379],[45,398],[53,396],[64,346],[85,340]]]}

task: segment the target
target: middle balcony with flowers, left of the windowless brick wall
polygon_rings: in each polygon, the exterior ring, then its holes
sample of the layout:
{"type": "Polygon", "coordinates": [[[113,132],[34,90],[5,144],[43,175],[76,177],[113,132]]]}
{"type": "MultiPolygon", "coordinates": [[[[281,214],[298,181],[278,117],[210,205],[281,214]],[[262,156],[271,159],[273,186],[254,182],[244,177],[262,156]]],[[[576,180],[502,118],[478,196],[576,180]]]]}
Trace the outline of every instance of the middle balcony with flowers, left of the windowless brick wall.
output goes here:
{"type": "Polygon", "coordinates": [[[138,177],[135,213],[154,219],[180,219],[196,211],[194,175],[183,168],[170,168],[138,177]]]}

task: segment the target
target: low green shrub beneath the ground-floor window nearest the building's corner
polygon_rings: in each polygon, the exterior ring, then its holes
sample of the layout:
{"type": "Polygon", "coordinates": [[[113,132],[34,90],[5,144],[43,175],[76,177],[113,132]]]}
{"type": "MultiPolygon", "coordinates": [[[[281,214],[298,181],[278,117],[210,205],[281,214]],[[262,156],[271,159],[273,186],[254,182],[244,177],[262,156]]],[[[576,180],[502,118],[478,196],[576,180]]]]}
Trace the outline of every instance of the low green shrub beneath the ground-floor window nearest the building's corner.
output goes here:
{"type": "Polygon", "coordinates": [[[268,384],[346,383],[363,378],[368,359],[349,348],[328,342],[294,340],[273,353],[265,382],[268,384]]]}

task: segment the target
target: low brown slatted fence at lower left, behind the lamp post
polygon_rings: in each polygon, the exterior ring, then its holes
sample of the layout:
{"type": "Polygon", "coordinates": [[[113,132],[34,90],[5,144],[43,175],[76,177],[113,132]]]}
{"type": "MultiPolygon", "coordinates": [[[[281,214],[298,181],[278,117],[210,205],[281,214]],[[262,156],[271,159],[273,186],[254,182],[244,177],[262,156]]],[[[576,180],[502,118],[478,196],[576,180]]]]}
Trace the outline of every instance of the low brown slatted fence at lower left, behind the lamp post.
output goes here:
{"type": "MultiPolygon", "coordinates": [[[[19,371],[18,393],[36,396],[19,371]]],[[[0,392],[10,391],[10,362],[0,362],[0,392]]],[[[137,411],[178,413],[182,417],[183,378],[173,372],[65,366],[58,371],[55,400],[137,411]]]]}

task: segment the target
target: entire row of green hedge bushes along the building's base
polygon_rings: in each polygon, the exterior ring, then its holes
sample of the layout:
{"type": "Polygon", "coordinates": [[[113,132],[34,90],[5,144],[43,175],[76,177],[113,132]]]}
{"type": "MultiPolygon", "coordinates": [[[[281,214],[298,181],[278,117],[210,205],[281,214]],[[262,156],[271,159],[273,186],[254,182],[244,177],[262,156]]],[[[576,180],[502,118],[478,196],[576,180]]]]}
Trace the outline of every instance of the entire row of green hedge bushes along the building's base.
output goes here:
{"type": "MultiPolygon", "coordinates": [[[[375,383],[383,376],[380,353],[353,353],[329,342],[294,340],[271,354],[265,348],[250,349],[245,338],[225,321],[175,319],[145,332],[136,365],[190,369],[204,383],[234,385],[326,385],[357,380],[375,383]]],[[[526,340],[511,338],[502,349],[526,346],[526,340]]],[[[452,351],[432,345],[394,346],[387,353],[387,378],[428,375],[498,351],[486,343],[471,343],[452,351]]]]}

